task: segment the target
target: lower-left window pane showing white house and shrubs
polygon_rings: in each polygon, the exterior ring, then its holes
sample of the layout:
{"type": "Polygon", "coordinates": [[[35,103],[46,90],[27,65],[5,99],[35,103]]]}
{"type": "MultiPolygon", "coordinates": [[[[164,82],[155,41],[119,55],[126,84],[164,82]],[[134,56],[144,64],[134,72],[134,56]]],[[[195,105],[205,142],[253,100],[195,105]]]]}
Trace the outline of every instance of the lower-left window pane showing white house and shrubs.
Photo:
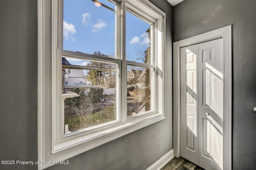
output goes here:
{"type": "Polygon", "coordinates": [[[116,67],[62,56],[64,134],[116,120],[116,67]]]}

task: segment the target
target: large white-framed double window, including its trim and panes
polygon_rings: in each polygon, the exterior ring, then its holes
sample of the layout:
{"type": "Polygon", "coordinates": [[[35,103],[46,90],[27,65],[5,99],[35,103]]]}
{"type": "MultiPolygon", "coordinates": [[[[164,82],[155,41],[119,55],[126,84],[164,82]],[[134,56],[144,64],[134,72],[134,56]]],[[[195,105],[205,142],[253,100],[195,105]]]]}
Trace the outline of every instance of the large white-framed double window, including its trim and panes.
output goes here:
{"type": "Polygon", "coordinates": [[[148,0],[38,7],[39,160],[64,160],[165,118],[164,12],[148,0]]]}

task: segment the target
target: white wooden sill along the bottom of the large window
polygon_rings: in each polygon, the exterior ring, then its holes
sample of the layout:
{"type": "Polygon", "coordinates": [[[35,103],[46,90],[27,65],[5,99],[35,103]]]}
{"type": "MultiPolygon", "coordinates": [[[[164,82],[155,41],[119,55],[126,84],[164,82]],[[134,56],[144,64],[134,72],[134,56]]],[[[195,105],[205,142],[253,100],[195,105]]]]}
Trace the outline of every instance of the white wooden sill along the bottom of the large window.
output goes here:
{"type": "MultiPolygon", "coordinates": [[[[140,118],[118,122],[114,126],[104,128],[72,140],[53,144],[50,157],[44,161],[59,162],[61,160],[66,160],[138,129],[164,120],[165,118],[164,114],[154,112],[152,114],[143,115],[140,118]]],[[[52,164],[41,165],[40,169],[47,168],[51,165],[52,164]]]]}

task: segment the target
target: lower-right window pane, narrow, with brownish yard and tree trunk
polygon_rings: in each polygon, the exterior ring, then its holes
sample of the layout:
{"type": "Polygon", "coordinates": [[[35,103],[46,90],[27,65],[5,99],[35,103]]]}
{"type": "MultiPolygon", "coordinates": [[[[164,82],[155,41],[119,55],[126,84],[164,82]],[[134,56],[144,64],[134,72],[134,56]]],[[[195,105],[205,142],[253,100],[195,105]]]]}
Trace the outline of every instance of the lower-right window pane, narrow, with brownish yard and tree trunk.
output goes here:
{"type": "Polygon", "coordinates": [[[127,116],[151,110],[153,68],[127,66],[127,116]]]}

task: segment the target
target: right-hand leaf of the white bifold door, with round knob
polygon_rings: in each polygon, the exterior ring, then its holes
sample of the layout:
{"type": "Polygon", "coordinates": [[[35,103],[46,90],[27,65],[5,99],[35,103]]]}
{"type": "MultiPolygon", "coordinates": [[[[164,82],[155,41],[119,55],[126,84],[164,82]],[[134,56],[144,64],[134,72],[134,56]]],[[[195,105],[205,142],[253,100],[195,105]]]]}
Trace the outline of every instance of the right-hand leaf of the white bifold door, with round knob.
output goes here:
{"type": "Polygon", "coordinates": [[[199,44],[199,166],[223,169],[223,39],[199,44]]]}

